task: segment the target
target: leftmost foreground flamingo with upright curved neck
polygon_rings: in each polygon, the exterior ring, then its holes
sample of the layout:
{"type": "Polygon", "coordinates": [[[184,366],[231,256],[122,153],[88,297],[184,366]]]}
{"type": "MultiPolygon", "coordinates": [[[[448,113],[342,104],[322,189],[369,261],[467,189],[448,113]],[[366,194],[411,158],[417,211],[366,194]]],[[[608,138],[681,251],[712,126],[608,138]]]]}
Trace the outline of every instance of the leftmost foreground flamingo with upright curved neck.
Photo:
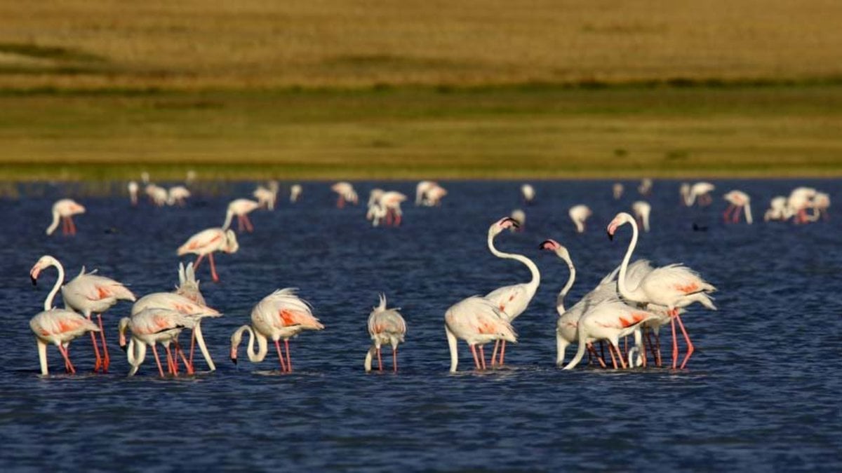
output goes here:
{"type": "MultiPolygon", "coordinates": [[[[61,288],[64,275],[59,274],[50,294],[44,300],[44,311],[35,314],[29,321],[29,328],[35,332],[35,343],[38,344],[38,359],[41,366],[41,375],[49,375],[47,368],[47,344],[56,345],[59,353],[64,358],[64,367],[68,373],[76,373],[76,368],[70,362],[70,354],[67,353],[67,346],[73,339],[81,337],[85,332],[99,332],[99,327],[87,318],[67,309],[58,309],[52,306],[53,298],[61,288]]],[[[35,279],[33,279],[35,284],[35,279]]]]}

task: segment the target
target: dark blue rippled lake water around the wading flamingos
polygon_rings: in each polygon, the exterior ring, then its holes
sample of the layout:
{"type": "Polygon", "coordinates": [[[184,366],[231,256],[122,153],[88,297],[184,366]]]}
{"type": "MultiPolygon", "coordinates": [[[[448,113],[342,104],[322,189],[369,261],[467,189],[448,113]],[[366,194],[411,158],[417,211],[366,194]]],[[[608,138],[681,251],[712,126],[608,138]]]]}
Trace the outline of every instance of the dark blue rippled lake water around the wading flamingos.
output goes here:
{"type": "MultiPolygon", "coordinates": [[[[637,257],[683,262],[717,285],[719,311],[684,317],[696,352],[689,369],[562,371],[554,365],[557,291],[564,264],[538,244],[566,245],[578,268],[568,304],[620,262],[630,231],[614,242],[605,226],[637,199],[637,183],[615,201],[610,182],[537,182],[525,231],[498,247],[539,265],[541,288],[515,322],[520,343],[508,366],[472,371],[460,343],[460,373],[450,375],[443,316],[456,301],[529,278],[519,263],[494,258],[488,226],[520,207],[520,183],[443,183],[440,208],[405,206],[401,228],[371,228],[361,207],[338,210],[328,183],[306,183],[297,205],[253,213],[233,255],[218,255],[220,284],[200,279],[211,306],[225,312],[203,324],[218,369],[161,380],[151,359],[127,378],[116,324],[129,303],[104,316],[112,347],[108,375],[91,375],[90,343],[74,343],[80,375],[41,378],[29,317],[55,280],[37,288],[29,268],[42,254],[69,275],[84,264],[131,284],[137,295],[177,282],[176,247],[221,225],[228,200],[198,195],[185,208],[131,208],[122,197],[80,198],[78,235],[46,237],[54,199],[72,189],[44,184],[37,198],[2,199],[0,301],[0,468],[5,470],[842,470],[839,395],[842,217],[795,226],[764,223],[770,197],[805,182],[716,181],[714,204],[679,206],[677,182],[656,181],[653,231],[637,257]],[[755,223],[724,225],[720,196],[743,189],[755,223]],[[583,235],[567,210],[594,210],[583,235]],[[693,224],[706,231],[693,231],[693,224]],[[261,364],[227,358],[233,330],[251,307],[281,287],[300,288],[327,327],[293,340],[296,371],[280,375],[270,352],[261,364]],[[408,322],[398,375],[362,369],[366,318],[383,291],[408,322]]],[[[836,202],[839,181],[808,181],[836,202]]],[[[365,199],[374,183],[357,183],[365,199]]],[[[380,183],[413,195],[414,183],[380,183]]],[[[838,215],[838,214],[837,214],[838,215]]],[[[668,353],[665,351],[665,355],[668,353]]],[[[570,354],[568,354],[568,357],[570,354]]],[[[391,357],[387,357],[390,358],[391,357]]],[[[197,364],[204,369],[202,362],[197,364]]]]}

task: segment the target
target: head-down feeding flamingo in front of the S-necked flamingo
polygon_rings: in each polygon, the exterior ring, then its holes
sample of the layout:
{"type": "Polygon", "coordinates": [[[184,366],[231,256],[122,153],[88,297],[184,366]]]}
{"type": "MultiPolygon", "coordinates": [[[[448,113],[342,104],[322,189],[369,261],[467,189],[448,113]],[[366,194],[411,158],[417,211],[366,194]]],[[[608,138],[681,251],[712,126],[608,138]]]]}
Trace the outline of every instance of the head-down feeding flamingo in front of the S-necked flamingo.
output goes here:
{"type": "Polygon", "coordinates": [[[465,340],[477,369],[485,369],[485,354],[482,345],[489,342],[504,340],[517,343],[517,334],[512,325],[506,321],[506,316],[490,300],[474,295],[450,306],[445,312],[445,335],[450,348],[450,373],[456,373],[459,364],[459,353],[456,342],[459,338],[465,340]],[[479,345],[479,358],[477,358],[479,345]],[[480,360],[482,359],[482,362],[480,360]]]}

